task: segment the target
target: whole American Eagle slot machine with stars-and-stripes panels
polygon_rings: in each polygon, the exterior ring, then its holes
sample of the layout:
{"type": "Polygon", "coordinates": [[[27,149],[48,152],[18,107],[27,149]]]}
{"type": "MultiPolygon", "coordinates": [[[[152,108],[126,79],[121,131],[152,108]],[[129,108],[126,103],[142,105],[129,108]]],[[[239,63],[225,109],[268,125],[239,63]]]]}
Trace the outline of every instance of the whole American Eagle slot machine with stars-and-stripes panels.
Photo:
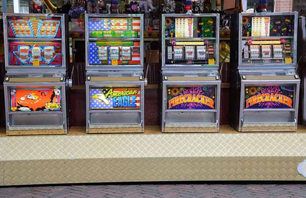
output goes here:
{"type": "Polygon", "coordinates": [[[144,130],[143,15],[86,14],[87,133],[144,130]]]}

